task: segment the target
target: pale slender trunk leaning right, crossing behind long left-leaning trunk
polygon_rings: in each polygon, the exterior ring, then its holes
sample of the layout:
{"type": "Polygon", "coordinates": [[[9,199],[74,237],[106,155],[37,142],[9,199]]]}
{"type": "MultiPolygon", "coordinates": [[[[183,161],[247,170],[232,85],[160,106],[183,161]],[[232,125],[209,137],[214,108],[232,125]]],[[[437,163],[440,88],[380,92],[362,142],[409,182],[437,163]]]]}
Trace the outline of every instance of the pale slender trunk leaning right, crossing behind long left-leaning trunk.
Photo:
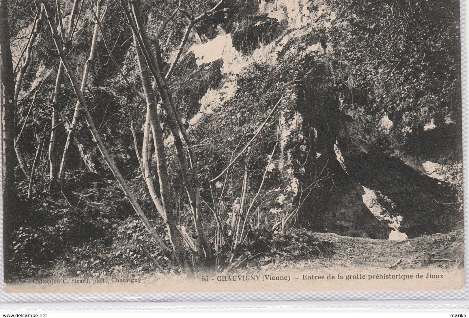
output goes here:
{"type": "MultiPolygon", "coordinates": [[[[86,61],[86,64],[85,64],[85,68],[83,70],[82,85],[80,87],[80,91],[82,91],[82,93],[84,92],[86,88],[86,82],[88,81],[88,73],[90,72],[90,68],[95,57],[96,42],[97,42],[98,30],[99,30],[99,27],[98,27],[98,23],[99,23],[98,19],[100,18],[99,15],[100,15],[100,1],[98,0],[96,3],[97,21],[95,22],[95,25],[94,25],[93,38],[91,40],[90,56],[88,57],[88,60],[86,61]]],[[[72,122],[68,128],[67,141],[65,142],[65,148],[62,154],[62,161],[61,161],[60,170],[59,170],[60,182],[64,180],[65,170],[67,169],[67,162],[70,156],[70,144],[73,142],[75,138],[76,123],[78,121],[79,112],[80,112],[80,102],[77,101],[76,106],[75,106],[75,112],[72,117],[72,122]]]]}

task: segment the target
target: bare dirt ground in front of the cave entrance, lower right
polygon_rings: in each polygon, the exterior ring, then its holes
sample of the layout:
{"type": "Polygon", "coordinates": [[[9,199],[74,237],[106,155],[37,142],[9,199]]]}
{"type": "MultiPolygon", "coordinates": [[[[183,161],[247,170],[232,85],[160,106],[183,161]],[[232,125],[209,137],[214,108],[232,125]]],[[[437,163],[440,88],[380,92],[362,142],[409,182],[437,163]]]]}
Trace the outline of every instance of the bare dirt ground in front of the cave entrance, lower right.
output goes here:
{"type": "MultiPolygon", "coordinates": [[[[456,267],[462,268],[464,262],[462,230],[447,234],[424,235],[406,241],[374,240],[306,231],[303,231],[303,234],[314,237],[322,245],[321,253],[308,259],[308,263],[314,266],[344,268],[372,266],[401,269],[431,266],[450,270],[456,267]]],[[[295,259],[285,259],[285,262],[290,264],[292,261],[295,259]]]]}

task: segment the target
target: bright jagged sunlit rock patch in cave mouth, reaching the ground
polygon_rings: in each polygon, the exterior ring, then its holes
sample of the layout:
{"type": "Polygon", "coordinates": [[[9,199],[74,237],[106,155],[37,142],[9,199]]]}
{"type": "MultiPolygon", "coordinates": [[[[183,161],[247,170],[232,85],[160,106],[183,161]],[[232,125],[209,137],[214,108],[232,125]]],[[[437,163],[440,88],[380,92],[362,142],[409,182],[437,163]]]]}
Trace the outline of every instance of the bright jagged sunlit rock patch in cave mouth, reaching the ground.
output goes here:
{"type": "Polygon", "coordinates": [[[394,216],[389,214],[389,212],[387,212],[386,209],[384,209],[381,204],[379,204],[379,200],[383,200],[393,206],[392,201],[388,197],[383,196],[379,191],[374,191],[363,186],[362,188],[363,191],[365,191],[365,194],[362,196],[363,203],[366,205],[368,210],[370,210],[370,212],[373,213],[373,215],[378,220],[387,221],[388,226],[393,229],[389,234],[388,240],[407,240],[407,235],[399,231],[399,227],[401,227],[402,216],[394,216]]]}

